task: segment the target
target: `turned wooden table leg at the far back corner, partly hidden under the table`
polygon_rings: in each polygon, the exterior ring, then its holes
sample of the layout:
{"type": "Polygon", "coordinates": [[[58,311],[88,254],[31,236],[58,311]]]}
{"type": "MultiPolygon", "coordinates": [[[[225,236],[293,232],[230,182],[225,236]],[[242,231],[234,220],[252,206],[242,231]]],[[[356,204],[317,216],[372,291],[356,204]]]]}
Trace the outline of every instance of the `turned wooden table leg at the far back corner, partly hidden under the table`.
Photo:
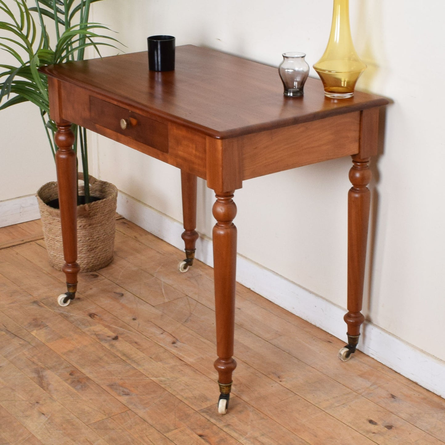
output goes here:
{"type": "Polygon", "coordinates": [[[196,240],[199,235],[196,229],[196,176],[181,170],[182,214],[184,218],[184,232],[181,238],[185,243],[186,259],[181,261],[178,268],[187,272],[195,259],[196,240]]]}

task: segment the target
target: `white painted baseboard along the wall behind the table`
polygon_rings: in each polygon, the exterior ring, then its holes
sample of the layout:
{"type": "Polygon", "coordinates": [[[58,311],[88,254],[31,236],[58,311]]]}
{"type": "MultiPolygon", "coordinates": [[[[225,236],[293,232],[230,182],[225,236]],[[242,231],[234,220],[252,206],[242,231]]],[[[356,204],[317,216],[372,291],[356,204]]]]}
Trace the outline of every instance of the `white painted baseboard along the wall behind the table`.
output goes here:
{"type": "MultiPolygon", "coordinates": [[[[184,249],[182,223],[119,192],[118,213],[167,243],[184,249]]],[[[213,266],[212,240],[200,236],[196,258],[213,266]]],[[[346,309],[327,301],[242,255],[237,256],[237,281],[289,312],[345,340],[346,309]]],[[[360,351],[445,398],[445,362],[365,322],[360,351]]]]}

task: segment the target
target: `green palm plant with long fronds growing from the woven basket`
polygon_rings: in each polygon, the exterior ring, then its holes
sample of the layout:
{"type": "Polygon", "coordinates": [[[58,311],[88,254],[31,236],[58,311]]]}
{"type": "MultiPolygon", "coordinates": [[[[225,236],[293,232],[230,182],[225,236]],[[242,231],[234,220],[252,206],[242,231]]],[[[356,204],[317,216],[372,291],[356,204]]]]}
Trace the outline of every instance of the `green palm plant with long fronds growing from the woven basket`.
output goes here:
{"type": "MultiPolygon", "coordinates": [[[[38,71],[42,65],[83,60],[85,49],[99,45],[114,46],[116,40],[99,34],[109,31],[104,25],[90,23],[90,4],[101,0],[0,0],[0,48],[10,54],[13,65],[0,64],[0,109],[30,101],[40,109],[49,146],[55,155],[54,133],[57,128],[49,118],[48,81],[38,71]],[[13,8],[12,8],[13,6],[13,8]],[[50,26],[50,27],[49,27],[50,26]],[[98,40],[97,40],[98,39],[98,40]],[[54,44],[51,43],[54,40],[54,44]],[[12,57],[11,57],[12,56],[12,57]],[[11,94],[14,94],[11,97],[11,94]]],[[[74,150],[78,152],[85,178],[88,178],[86,130],[73,125],[74,150]]],[[[90,201],[88,181],[85,181],[85,202],[90,201]]]]}

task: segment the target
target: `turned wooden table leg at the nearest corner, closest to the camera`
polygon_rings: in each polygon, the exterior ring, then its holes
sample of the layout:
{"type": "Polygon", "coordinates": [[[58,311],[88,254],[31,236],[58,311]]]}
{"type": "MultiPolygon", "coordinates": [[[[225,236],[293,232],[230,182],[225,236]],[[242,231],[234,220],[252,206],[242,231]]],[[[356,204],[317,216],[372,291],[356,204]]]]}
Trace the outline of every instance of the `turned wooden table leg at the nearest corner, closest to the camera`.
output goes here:
{"type": "Polygon", "coordinates": [[[218,371],[220,399],[218,411],[225,413],[229,405],[232,372],[237,367],[233,359],[235,330],[235,279],[237,263],[237,228],[233,219],[237,206],[233,202],[233,191],[216,192],[213,216],[213,261],[215,274],[216,353],[215,369],[218,371]]]}

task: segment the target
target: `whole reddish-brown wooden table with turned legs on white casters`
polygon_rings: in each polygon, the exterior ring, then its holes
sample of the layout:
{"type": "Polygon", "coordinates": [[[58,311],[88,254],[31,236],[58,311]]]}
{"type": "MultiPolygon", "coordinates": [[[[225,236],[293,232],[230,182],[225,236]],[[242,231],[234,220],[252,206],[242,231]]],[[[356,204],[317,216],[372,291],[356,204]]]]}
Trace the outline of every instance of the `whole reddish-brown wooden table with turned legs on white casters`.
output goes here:
{"type": "Polygon", "coordinates": [[[48,75],[51,117],[58,131],[57,181],[68,291],[77,275],[76,157],[71,123],[180,168],[187,259],[193,263],[196,177],[215,191],[213,252],[216,302],[215,368],[219,412],[225,413],[236,368],[233,359],[237,207],[243,181],[327,159],[352,156],[348,198],[347,360],[358,343],[363,315],[363,279],[371,179],[382,97],[356,92],[351,99],[324,96],[308,79],[305,95],[283,96],[275,68],[192,45],[176,49],[176,70],[151,72],[147,53],[133,53],[41,69],[48,75]]]}

